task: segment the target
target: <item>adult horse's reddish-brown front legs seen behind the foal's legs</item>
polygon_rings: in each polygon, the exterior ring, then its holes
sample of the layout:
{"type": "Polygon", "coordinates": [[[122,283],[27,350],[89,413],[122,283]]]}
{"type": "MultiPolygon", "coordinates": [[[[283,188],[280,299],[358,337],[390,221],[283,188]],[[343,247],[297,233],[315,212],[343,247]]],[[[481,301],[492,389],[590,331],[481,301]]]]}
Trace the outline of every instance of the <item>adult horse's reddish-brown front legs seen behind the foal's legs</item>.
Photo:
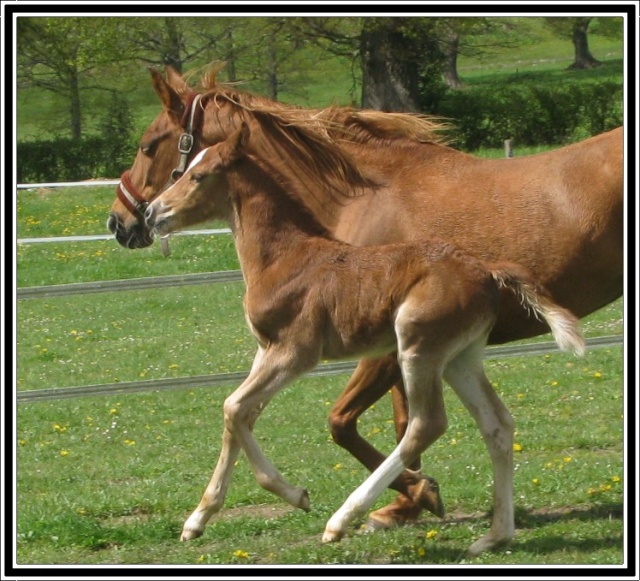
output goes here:
{"type": "MultiPolygon", "coordinates": [[[[358,417],[392,388],[397,441],[407,426],[406,397],[397,356],[390,354],[376,360],[362,360],[340,394],[329,415],[333,440],[373,472],[385,459],[358,433],[358,417]]],[[[399,491],[396,500],[369,518],[369,528],[389,528],[415,520],[423,509],[443,516],[437,482],[418,472],[419,458],[390,487],[399,491]]]]}

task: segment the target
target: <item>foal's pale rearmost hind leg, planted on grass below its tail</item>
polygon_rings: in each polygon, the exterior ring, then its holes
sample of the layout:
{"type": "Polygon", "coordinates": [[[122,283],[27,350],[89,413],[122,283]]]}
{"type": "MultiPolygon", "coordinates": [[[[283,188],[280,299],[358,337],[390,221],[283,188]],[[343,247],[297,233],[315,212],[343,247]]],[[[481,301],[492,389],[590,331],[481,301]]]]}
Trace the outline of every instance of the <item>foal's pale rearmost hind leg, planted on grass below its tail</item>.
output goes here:
{"type": "Polygon", "coordinates": [[[451,361],[444,378],[476,421],[493,464],[493,517],[489,532],[469,548],[476,556],[507,543],[515,534],[513,509],[513,432],[509,410],[498,397],[482,365],[484,343],[476,343],[451,361]]]}

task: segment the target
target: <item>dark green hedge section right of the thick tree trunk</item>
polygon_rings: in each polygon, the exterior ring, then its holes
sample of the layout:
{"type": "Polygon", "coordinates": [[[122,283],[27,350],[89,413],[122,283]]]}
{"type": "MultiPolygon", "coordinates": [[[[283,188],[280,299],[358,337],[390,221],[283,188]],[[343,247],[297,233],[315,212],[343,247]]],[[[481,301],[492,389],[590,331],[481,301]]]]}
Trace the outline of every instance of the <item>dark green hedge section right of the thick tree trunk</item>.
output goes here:
{"type": "Polygon", "coordinates": [[[505,86],[448,93],[437,114],[455,125],[466,151],[518,145],[561,145],[622,125],[622,87],[611,81],[554,86],[505,86]]]}

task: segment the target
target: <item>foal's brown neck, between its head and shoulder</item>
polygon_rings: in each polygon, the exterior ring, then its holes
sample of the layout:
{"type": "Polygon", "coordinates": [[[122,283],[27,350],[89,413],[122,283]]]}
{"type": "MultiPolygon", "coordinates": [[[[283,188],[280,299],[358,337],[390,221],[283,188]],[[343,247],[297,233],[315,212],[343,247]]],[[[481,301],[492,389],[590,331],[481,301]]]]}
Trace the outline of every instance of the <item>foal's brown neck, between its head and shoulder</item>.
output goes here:
{"type": "Polygon", "coordinates": [[[250,157],[237,161],[227,172],[231,200],[230,227],[248,286],[271,265],[295,256],[303,266],[313,253],[312,244],[331,237],[290,188],[250,157]],[[285,191],[287,187],[287,191],[285,191]]]}

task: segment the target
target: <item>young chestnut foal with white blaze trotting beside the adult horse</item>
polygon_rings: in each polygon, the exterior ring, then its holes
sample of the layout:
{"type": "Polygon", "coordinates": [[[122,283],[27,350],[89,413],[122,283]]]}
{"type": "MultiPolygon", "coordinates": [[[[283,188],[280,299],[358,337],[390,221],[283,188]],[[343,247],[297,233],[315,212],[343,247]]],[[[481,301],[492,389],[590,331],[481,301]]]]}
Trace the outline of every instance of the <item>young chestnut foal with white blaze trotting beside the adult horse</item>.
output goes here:
{"type": "Polygon", "coordinates": [[[146,223],[159,235],[211,218],[227,222],[246,283],[245,317],[258,343],[249,376],[224,402],[218,464],[182,540],[200,536],[222,508],[240,449],[263,488],[309,510],[307,491],[289,484],[261,450],[253,436],[256,419],[278,391],[321,359],[397,353],[408,402],[406,433],[329,519],[322,540],[340,540],[349,523],[442,436],[445,378],[475,418],[493,465],[491,527],[469,553],[510,541],[514,424],[482,361],[500,289],[544,320],[562,349],[582,354],[576,317],[518,264],[487,263],[437,239],[365,247],[336,240],[306,202],[338,158],[312,136],[316,156],[305,169],[315,180],[301,180],[306,155],[300,147],[307,136],[276,131],[284,146],[265,147],[260,135],[274,119],[252,124],[258,139],[243,122],[229,139],[200,152],[145,211],[146,223]]]}

